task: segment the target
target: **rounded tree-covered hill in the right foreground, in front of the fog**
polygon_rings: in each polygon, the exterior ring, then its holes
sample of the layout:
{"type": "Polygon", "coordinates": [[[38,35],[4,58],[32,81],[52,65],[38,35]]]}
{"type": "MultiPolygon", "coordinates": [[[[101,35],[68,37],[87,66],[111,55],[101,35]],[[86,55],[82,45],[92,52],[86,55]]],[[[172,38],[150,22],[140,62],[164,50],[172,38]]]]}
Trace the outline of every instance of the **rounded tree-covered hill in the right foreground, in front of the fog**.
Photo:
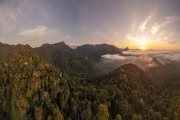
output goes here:
{"type": "Polygon", "coordinates": [[[107,116],[107,119],[114,120],[118,116],[125,120],[160,120],[172,114],[168,113],[172,104],[164,104],[166,101],[172,101],[171,92],[159,86],[136,65],[126,64],[104,76],[82,81],[71,91],[77,96],[71,97],[76,101],[78,109],[86,108],[84,112],[77,111],[77,114],[90,115],[88,119],[100,117],[96,113],[101,111],[103,106],[103,110],[107,108],[108,113],[104,112],[102,119],[107,116]],[[167,96],[164,96],[164,93],[167,96]],[[159,100],[164,102],[159,103],[159,100]],[[159,106],[167,109],[156,108],[159,106]]]}

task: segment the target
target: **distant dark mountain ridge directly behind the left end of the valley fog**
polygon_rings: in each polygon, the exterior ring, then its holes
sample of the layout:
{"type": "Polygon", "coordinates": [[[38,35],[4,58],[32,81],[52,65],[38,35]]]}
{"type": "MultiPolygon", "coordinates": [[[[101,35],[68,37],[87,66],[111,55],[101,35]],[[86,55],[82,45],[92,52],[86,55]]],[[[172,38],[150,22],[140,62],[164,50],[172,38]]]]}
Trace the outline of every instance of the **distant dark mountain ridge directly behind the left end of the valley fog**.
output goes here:
{"type": "Polygon", "coordinates": [[[79,53],[81,53],[84,58],[92,60],[92,61],[99,61],[102,55],[105,54],[121,54],[122,50],[108,44],[98,44],[98,45],[82,45],[75,49],[79,53]]]}

